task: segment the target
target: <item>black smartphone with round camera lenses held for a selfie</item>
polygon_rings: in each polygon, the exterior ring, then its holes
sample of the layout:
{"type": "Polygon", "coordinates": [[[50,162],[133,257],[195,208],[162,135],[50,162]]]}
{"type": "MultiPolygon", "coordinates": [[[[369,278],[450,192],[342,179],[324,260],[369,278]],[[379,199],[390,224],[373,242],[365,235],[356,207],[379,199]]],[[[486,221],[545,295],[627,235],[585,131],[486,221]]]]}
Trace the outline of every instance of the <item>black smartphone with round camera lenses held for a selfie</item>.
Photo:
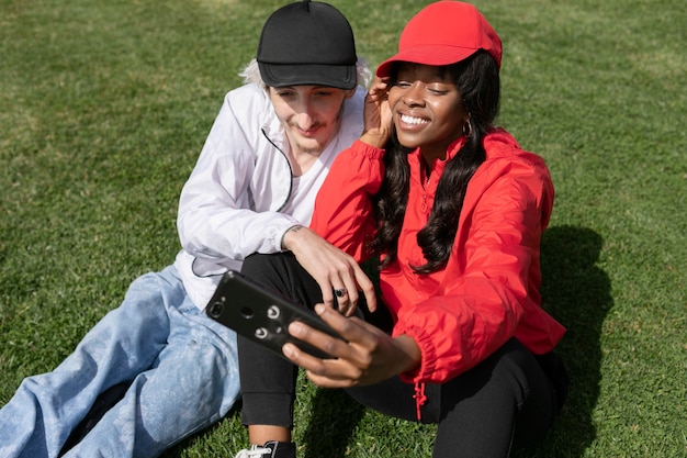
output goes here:
{"type": "Polygon", "coordinates": [[[341,336],[329,327],[315,312],[290,302],[264,289],[235,270],[227,271],[205,308],[205,313],[216,322],[236,331],[284,358],[282,346],[291,342],[318,358],[331,358],[318,348],[289,334],[289,323],[300,321],[329,334],[341,336]]]}

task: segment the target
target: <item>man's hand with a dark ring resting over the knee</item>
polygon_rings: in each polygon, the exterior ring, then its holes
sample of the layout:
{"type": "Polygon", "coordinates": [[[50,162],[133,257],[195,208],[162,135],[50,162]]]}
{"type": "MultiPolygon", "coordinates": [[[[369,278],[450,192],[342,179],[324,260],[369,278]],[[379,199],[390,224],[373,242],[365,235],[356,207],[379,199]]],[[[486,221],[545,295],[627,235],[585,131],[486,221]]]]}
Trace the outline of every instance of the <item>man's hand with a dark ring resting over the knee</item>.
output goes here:
{"type": "Polygon", "coordinates": [[[342,291],[336,302],[339,312],[349,316],[356,311],[359,293],[362,292],[368,309],[371,312],[376,310],[374,284],[352,256],[304,226],[294,226],[286,231],[282,244],[317,281],[325,304],[333,306],[334,291],[342,291]]]}

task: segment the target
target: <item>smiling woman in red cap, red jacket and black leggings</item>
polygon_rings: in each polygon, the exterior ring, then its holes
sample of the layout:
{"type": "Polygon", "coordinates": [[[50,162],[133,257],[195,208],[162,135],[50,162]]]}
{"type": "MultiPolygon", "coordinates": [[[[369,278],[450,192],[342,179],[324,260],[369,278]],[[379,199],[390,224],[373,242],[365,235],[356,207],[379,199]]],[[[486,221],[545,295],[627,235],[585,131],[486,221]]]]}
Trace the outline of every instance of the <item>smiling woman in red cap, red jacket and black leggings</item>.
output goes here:
{"type": "Polygon", "coordinates": [[[421,10],[378,68],[365,132],[334,163],[311,228],[286,233],[293,255],[247,259],[244,270],[269,288],[324,302],[315,311],[346,342],[292,323],[294,337],[334,358],[286,344],[285,360],[239,338],[243,421],[255,445],[239,456],[295,456],[299,366],[383,413],[437,423],[435,457],[507,457],[551,425],[567,388],[553,353],[565,331],[539,293],[553,186],[544,161],[493,124],[500,57],[473,5],[421,10]],[[375,313],[357,264],[372,256],[375,313]],[[335,302],[342,313],[326,306],[335,302]],[[357,305],[368,322],[344,316],[357,305]]]}

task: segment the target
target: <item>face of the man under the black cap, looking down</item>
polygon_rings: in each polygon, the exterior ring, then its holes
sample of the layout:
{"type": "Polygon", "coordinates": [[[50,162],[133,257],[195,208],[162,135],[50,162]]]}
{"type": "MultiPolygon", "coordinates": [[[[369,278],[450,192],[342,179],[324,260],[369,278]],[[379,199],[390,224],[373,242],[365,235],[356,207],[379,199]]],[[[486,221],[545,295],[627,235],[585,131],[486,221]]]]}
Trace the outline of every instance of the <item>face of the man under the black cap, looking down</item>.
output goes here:
{"type": "Polygon", "coordinates": [[[319,86],[270,87],[269,92],[291,149],[311,155],[319,155],[339,132],[344,101],[353,94],[319,86]]]}

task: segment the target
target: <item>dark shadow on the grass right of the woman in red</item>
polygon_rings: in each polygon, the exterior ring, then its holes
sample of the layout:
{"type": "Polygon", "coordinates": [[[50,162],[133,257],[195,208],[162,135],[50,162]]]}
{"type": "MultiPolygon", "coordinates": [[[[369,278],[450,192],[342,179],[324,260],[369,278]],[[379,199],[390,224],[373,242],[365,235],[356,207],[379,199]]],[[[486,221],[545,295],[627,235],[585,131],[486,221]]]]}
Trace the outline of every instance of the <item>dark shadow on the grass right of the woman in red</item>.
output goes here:
{"type": "Polygon", "coordinates": [[[543,306],[566,328],[559,345],[571,376],[566,404],[548,437],[515,457],[582,457],[596,436],[592,415],[601,379],[600,335],[613,302],[597,265],[604,239],[586,227],[550,227],[541,245],[543,306]]]}

